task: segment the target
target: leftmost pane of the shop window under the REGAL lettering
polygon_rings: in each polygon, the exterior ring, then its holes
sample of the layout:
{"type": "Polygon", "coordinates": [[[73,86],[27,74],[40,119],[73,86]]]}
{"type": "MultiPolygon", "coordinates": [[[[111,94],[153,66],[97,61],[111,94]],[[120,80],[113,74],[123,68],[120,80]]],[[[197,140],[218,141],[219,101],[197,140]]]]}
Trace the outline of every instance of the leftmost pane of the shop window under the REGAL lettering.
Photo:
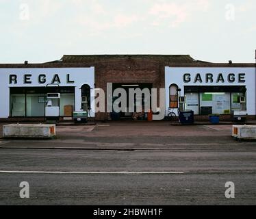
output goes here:
{"type": "Polygon", "coordinates": [[[11,94],[10,111],[12,116],[25,116],[25,94],[11,94]]]}

